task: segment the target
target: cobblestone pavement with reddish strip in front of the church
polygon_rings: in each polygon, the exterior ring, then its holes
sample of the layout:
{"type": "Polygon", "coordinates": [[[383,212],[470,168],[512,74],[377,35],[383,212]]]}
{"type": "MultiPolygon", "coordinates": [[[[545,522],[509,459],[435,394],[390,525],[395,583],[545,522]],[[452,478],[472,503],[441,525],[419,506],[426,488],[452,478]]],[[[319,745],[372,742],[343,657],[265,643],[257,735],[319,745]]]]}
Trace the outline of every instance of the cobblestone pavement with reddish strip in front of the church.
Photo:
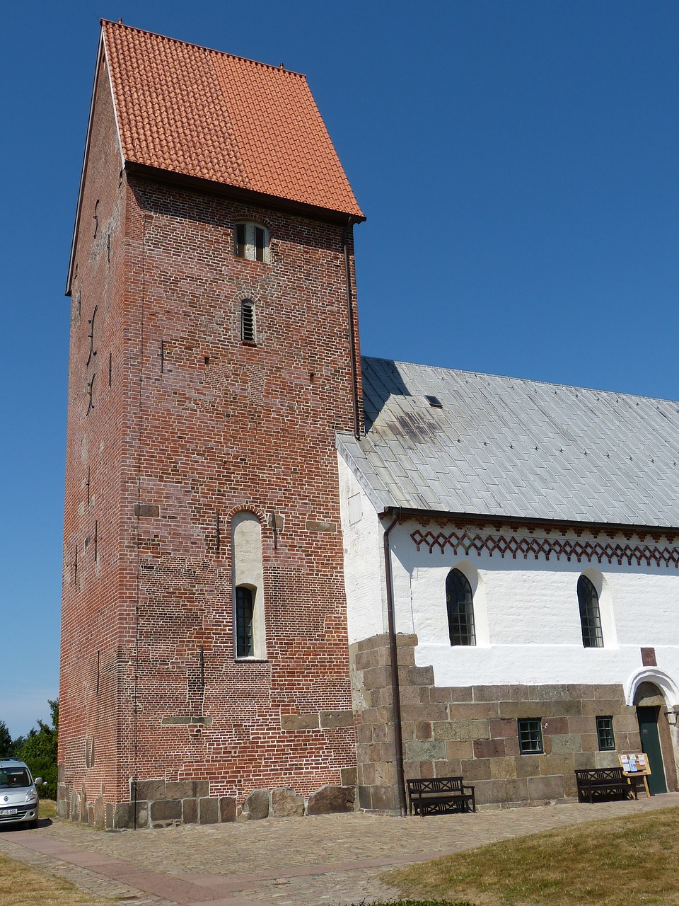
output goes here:
{"type": "Polygon", "coordinates": [[[668,806],[679,793],[425,819],[357,812],[117,832],[55,820],[5,829],[0,852],[136,906],[339,906],[395,897],[379,880],[391,866],[668,806]]]}

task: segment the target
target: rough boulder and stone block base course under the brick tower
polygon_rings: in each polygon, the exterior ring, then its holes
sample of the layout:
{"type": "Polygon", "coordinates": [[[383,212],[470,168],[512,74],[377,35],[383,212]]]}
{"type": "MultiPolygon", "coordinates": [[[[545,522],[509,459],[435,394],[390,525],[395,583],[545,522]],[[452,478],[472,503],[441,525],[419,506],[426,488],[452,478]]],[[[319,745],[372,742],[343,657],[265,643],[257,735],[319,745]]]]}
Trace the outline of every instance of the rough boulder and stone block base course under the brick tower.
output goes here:
{"type": "Polygon", "coordinates": [[[104,803],[101,796],[87,800],[80,794],[59,788],[57,814],[72,821],[106,828],[169,827],[177,824],[223,824],[269,817],[352,812],[355,786],[321,786],[308,799],[288,787],[253,790],[238,805],[235,796],[209,795],[207,780],[141,780],[137,796],[129,802],[104,803]]]}

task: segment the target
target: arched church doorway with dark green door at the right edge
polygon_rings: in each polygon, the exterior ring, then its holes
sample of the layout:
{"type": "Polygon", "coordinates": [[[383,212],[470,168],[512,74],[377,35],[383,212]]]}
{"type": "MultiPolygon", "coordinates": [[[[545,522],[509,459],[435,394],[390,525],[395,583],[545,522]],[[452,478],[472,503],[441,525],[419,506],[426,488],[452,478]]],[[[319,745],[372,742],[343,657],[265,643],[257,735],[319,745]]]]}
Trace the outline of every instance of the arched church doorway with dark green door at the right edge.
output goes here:
{"type": "Polygon", "coordinates": [[[671,686],[668,688],[666,679],[669,678],[640,677],[634,684],[634,689],[630,689],[630,703],[636,708],[642,748],[651,766],[652,775],[648,778],[648,786],[652,794],[677,789],[676,740],[673,740],[672,728],[665,716],[665,712],[672,707],[671,701],[667,699],[671,686]]]}

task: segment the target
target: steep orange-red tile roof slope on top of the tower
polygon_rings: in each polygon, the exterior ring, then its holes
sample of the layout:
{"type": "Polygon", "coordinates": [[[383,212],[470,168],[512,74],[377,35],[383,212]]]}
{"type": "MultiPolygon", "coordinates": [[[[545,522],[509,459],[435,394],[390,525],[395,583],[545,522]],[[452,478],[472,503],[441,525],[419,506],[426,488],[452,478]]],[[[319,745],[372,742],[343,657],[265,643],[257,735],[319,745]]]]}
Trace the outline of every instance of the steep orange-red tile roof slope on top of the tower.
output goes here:
{"type": "Polygon", "coordinates": [[[127,161],[362,217],[303,75],[101,28],[127,161]]]}

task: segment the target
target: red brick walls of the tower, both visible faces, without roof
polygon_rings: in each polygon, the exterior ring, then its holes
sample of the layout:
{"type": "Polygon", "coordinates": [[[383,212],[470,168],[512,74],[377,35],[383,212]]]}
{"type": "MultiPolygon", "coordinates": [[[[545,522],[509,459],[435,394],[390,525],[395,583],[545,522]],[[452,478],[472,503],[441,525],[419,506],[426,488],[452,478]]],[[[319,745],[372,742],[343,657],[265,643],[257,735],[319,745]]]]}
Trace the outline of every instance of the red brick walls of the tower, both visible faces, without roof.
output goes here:
{"type": "Polygon", "coordinates": [[[105,801],[124,801],[130,777],[209,779],[210,795],[309,794],[355,765],[353,728],[281,728],[282,715],[351,707],[334,442],[353,427],[342,229],[134,177],[119,191],[100,87],[73,290],[62,795],[84,784],[91,800],[103,784],[105,801]],[[123,225],[110,255],[92,237],[96,198],[100,224],[118,211],[123,225]],[[270,228],[271,264],[234,257],[241,219],[270,228]],[[240,341],[246,297],[254,347],[240,341]],[[150,515],[135,515],[139,503],[150,515]],[[263,519],[265,662],[234,660],[238,508],[263,519]],[[275,539],[271,513],[283,524],[275,539]],[[91,543],[82,549],[94,519],[96,564],[91,543]],[[161,725],[196,714],[210,722],[161,725]]]}

